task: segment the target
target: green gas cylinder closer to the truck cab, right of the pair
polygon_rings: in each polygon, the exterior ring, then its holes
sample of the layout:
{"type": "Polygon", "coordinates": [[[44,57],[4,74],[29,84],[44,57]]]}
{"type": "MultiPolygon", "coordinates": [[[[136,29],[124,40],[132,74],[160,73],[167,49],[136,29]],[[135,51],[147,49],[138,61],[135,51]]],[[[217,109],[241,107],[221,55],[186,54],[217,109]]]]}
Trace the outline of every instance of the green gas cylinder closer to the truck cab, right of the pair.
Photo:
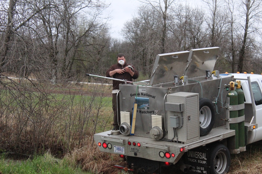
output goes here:
{"type": "MultiPolygon", "coordinates": [[[[244,92],[241,89],[241,81],[237,80],[236,92],[238,95],[238,104],[244,103],[244,92]]],[[[244,109],[238,110],[238,117],[245,115],[244,109]]],[[[238,145],[239,147],[245,146],[245,123],[244,121],[238,123],[238,145]]]]}

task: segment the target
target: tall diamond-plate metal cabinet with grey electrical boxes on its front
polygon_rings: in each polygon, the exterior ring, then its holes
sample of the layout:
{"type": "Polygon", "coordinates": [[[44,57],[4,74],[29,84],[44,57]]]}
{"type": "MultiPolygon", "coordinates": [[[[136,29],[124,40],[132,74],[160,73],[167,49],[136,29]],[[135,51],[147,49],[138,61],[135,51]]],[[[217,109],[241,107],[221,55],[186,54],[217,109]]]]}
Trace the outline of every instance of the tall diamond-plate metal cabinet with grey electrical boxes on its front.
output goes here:
{"type": "Polygon", "coordinates": [[[199,140],[199,97],[198,93],[177,92],[167,95],[168,140],[192,142],[199,140]],[[172,107],[170,107],[173,105],[172,107]],[[176,133],[175,133],[176,132],[176,133]],[[176,136],[177,135],[177,136],[176,136]]]}

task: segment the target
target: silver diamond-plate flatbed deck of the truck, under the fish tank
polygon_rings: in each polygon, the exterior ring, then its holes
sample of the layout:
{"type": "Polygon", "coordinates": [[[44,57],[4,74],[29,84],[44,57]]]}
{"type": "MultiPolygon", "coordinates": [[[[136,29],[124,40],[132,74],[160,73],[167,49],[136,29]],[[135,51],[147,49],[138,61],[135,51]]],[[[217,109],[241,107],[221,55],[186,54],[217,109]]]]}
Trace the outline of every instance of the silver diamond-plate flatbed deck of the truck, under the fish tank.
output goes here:
{"type": "MultiPolygon", "coordinates": [[[[176,163],[183,155],[185,151],[188,151],[189,149],[193,149],[195,147],[204,146],[208,143],[215,142],[218,140],[222,140],[231,136],[235,135],[235,130],[229,130],[226,129],[225,126],[220,126],[217,128],[213,128],[211,132],[206,135],[199,138],[198,141],[190,142],[190,143],[181,143],[181,142],[168,142],[164,140],[155,140],[151,138],[146,137],[139,137],[139,136],[124,136],[124,135],[110,135],[111,131],[106,131],[102,133],[98,133],[94,135],[94,139],[96,144],[98,142],[106,142],[111,143],[112,146],[121,146],[125,149],[125,154],[127,156],[133,156],[133,157],[140,157],[140,158],[146,158],[150,160],[155,161],[167,161],[170,163],[176,163]],[[140,143],[141,146],[129,146],[128,141],[131,143],[136,142],[140,143]],[[136,147],[138,152],[131,151],[131,147],[136,147]],[[180,149],[184,148],[184,152],[180,152],[180,149]],[[159,152],[170,152],[174,153],[175,157],[171,157],[169,159],[167,158],[161,158],[159,156],[159,152]]],[[[100,151],[102,152],[109,152],[109,153],[115,153],[114,149],[108,149],[103,148],[102,146],[98,146],[100,151]]],[[[119,153],[115,153],[119,154],[119,153]]]]}

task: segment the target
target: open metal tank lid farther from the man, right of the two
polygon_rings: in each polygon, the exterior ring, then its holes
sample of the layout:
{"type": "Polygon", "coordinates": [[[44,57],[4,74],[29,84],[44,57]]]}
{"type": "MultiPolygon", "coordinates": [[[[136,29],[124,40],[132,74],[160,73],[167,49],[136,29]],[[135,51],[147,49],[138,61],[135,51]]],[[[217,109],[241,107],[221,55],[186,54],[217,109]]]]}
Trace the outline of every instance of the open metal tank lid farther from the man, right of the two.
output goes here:
{"type": "Polygon", "coordinates": [[[206,75],[206,70],[210,70],[211,73],[214,70],[218,54],[219,47],[190,50],[184,76],[188,76],[188,78],[204,76],[206,75]]]}

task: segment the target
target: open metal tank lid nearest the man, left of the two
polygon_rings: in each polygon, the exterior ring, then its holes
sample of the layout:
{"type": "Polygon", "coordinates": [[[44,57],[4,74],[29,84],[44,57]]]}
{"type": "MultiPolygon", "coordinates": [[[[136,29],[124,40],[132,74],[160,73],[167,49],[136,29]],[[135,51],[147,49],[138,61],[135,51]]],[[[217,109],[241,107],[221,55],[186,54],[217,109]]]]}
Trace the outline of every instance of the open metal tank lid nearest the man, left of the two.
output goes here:
{"type": "Polygon", "coordinates": [[[150,85],[171,82],[174,75],[183,76],[188,62],[189,51],[159,54],[150,78],[150,85]]]}

